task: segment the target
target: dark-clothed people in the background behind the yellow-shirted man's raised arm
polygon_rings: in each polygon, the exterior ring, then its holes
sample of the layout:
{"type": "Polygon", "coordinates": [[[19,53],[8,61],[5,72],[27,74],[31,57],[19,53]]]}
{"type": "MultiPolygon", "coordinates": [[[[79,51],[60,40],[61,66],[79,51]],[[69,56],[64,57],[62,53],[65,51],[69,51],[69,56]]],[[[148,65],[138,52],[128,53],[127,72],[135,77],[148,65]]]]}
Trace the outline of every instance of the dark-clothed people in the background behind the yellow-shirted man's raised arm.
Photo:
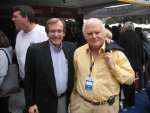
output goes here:
{"type": "MultiPolygon", "coordinates": [[[[135,108],[135,93],[145,90],[149,79],[149,58],[144,49],[144,43],[148,42],[142,28],[135,28],[132,22],[125,22],[122,27],[113,26],[109,28],[112,31],[113,37],[121,47],[124,48],[124,53],[130,61],[130,64],[135,72],[135,82],[128,86],[123,85],[121,89],[121,102],[123,110],[135,108]]],[[[147,91],[148,96],[149,91],[147,91]]]]}

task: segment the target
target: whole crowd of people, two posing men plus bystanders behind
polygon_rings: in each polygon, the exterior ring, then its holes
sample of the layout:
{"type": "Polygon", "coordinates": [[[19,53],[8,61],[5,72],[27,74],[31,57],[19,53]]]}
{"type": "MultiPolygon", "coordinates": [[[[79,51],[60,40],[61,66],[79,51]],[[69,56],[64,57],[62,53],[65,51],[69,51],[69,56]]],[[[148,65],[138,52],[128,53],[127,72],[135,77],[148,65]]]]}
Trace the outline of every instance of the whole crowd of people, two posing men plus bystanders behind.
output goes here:
{"type": "MultiPolygon", "coordinates": [[[[64,41],[73,34],[63,19],[50,18],[44,27],[36,23],[30,6],[19,5],[12,12],[19,32],[14,50],[0,32],[0,85],[8,70],[3,49],[10,59],[12,53],[17,58],[23,113],[119,113],[122,99],[124,108],[134,106],[135,78],[140,79],[139,90],[145,88],[149,68],[142,30],[131,22],[106,28],[91,17],[77,32],[77,42],[64,41]]],[[[8,100],[0,97],[3,113],[9,113],[8,100]]]]}

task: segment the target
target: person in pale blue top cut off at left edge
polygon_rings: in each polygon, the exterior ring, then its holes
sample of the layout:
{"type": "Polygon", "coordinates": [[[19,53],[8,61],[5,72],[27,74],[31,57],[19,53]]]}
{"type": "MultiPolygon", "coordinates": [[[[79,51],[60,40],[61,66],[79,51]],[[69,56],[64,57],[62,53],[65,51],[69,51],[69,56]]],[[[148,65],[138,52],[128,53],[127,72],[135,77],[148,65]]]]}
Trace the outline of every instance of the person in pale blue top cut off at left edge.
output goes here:
{"type": "MultiPolygon", "coordinates": [[[[0,31],[0,86],[5,79],[8,71],[8,58],[9,61],[12,59],[12,47],[10,46],[9,40],[7,36],[0,31]],[[7,55],[8,57],[7,57],[7,55]]],[[[9,105],[8,105],[9,96],[0,96],[0,112],[1,113],[9,113],[9,105]]]]}

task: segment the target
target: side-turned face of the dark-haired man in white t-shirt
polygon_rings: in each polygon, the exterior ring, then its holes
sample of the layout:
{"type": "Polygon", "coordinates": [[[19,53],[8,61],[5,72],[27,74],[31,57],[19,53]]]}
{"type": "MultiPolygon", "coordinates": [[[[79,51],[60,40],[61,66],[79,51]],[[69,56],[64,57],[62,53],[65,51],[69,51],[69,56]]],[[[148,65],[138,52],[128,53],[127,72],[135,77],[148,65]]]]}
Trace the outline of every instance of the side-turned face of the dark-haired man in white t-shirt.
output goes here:
{"type": "Polygon", "coordinates": [[[21,29],[24,29],[23,27],[27,21],[27,17],[23,17],[20,14],[20,11],[15,11],[13,12],[12,21],[14,22],[16,29],[21,30],[21,29]]]}

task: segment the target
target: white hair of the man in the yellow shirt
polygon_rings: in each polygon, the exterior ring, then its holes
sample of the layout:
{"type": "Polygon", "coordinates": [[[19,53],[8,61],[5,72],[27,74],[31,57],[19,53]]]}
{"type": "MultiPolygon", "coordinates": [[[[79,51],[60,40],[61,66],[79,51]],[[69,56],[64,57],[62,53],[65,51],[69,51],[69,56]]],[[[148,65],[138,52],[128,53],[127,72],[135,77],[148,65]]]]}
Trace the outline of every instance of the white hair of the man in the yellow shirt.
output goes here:
{"type": "Polygon", "coordinates": [[[82,32],[84,35],[86,35],[86,28],[88,26],[96,26],[96,25],[99,25],[100,29],[102,31],[105,30],[105,27],[102,23],[102,21],[99,19],[99,18],[89,18],[84,24],[83,24],[83,27],[82,27],[82,32]]]}

